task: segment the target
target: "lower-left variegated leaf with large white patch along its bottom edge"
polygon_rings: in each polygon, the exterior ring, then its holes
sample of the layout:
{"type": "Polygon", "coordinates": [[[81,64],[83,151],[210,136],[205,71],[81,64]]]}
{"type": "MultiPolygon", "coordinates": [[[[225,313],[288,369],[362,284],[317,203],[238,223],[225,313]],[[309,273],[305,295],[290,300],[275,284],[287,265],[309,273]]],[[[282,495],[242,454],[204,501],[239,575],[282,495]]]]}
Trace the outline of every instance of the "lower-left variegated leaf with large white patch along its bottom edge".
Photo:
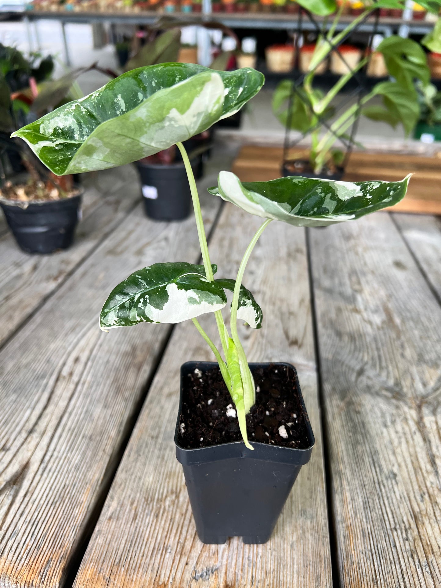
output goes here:
{"type": "MultiPolygon", "coordinates": [[[[213,273],[218,269],[212,265],[213,273]]],[[[137,323],[180,323],[226,305],[222,286],[209,282],[202,265],[155,263],[114,288],[101,310],[101,329],[137,323]]]]}

